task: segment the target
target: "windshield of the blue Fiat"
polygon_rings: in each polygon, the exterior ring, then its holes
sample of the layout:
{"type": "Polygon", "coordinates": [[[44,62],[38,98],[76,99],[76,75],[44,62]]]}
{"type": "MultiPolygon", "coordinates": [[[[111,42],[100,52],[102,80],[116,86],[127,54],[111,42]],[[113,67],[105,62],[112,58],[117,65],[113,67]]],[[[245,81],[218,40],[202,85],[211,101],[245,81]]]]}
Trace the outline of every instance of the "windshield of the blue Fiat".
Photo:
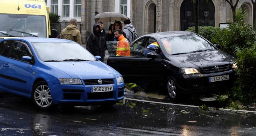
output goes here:
{"type": "Polygon", "coordinates": [[[42,61],[64,61],[66,59],[96,61],[88,50],[77,43],[35,42],[32,44],[42,61]]]}

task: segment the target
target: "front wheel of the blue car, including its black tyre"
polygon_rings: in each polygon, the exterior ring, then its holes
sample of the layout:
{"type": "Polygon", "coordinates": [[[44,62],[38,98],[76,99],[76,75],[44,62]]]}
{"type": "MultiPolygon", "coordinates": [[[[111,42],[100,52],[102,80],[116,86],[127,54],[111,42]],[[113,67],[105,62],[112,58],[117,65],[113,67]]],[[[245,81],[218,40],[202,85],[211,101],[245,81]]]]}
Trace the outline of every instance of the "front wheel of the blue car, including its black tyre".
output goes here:
{"type": "Polygon", "coordinates": [[[50,109],[53,107],[50,88],[45,81],[40,81],[33,86],[31,98],[39,109],[50,109]]]}

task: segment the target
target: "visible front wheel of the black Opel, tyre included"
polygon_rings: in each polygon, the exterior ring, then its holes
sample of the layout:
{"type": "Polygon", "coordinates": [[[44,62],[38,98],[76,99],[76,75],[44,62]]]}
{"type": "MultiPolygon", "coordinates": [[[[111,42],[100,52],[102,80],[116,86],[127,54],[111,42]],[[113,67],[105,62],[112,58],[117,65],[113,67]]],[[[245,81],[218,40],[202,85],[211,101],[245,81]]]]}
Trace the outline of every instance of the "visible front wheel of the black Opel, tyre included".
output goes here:
{"type": "Polygon", "coordinates": [[[166,90],[167,90],[167,94],[168,94],[168,97],[170,98],[171,101],[177,101],[177,98],[179,96],[179,88],[176,84],[176,81],[175,79],[170,76],[167,78],[166,80],[166,90]]]}

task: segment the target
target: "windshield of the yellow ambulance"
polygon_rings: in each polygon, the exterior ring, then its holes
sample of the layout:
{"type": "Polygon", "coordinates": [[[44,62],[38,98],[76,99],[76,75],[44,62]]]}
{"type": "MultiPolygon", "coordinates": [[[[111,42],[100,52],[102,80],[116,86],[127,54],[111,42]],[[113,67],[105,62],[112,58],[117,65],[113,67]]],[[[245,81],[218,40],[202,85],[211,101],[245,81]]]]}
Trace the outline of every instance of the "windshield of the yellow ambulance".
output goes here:
{"type": "Polygon", "coordinates": [[[47,37],[45,16],[0,14],[0,24],[1,37],[47,37]]]}

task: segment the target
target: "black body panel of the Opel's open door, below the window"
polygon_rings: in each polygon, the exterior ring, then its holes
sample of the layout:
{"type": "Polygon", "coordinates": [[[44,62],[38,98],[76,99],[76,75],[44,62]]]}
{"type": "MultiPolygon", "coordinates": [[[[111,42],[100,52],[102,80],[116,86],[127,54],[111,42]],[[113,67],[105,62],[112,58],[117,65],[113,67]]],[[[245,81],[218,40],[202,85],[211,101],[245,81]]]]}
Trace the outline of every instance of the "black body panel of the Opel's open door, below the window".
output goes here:
{"type": "Polygon", "coordinates": [[[108,65],[123,75],[125,83],[161,79],[162,59],[109,56],[108,65]]]}

